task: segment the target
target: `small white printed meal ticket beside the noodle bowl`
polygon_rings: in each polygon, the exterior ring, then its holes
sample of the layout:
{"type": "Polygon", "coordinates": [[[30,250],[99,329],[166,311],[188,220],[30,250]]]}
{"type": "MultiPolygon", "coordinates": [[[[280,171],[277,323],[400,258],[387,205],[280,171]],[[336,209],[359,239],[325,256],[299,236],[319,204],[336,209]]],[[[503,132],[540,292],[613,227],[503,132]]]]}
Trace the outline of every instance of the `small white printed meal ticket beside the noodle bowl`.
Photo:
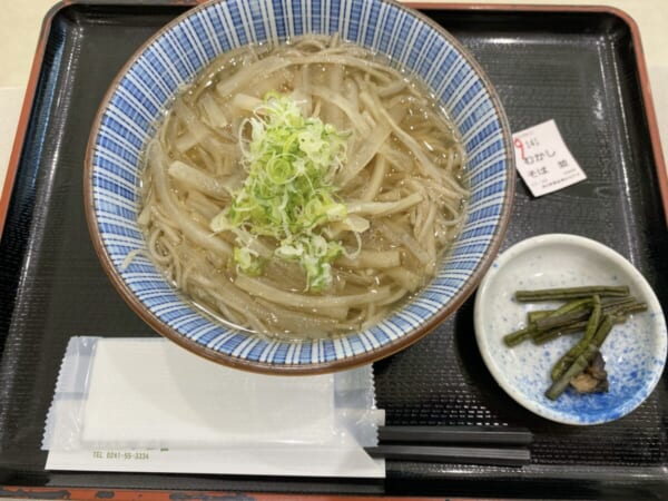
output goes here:
{"type": "Polygon", "coordinates": [[[512,135],[518,171],[534,197],[587,179],[554,120],[512,135]]]}

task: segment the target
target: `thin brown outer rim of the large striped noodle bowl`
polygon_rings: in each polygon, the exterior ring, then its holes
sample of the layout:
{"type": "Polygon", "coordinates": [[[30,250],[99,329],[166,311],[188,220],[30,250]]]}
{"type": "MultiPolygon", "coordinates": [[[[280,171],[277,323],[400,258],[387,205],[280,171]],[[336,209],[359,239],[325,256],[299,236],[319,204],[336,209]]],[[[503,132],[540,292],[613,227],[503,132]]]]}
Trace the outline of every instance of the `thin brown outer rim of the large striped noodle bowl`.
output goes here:
{"type": "Polygon", "coordinates": [[[306,374],[322,374],[334,371],[341,371],[346,369],[354,369],[360,365],[369,364],[375,362],[381,358],[385,358],[411,344],[418,342],[422,337],[424,337],[428,333],[434,330],[440,323],[442,323],[445,318],[452,315],[475,291],[475,287],[484,276],[487,269],[491,265],[494,256],[499,252],[501,247],[501,243],[503,242],[505,232],[508,229],[508,225],[510,222],[510,216],[512,213],[512,202],[514,198],[514,189],[515,189],[515,169],[514,169],[514,151],[511,143],[511,132],[510,127],[508,125],[508,118],[505,116],[505,111],[501,104],[501,100],[497,94],[497,90],[492,86],[487,73],[483,71],[478,61],[472,57],[472,55],[459,42],[449,31],[446,31],[443,27],[436,23],[434,20],[430,19],[428,16],[416,11],[415,9],[407,7],[405,4],[399,3],[395,0],[377,0],[382,3],[390,4],[396,9],[405,11],[407,14],[416,18],[420,22],[428,24],[430,28],[434,29],[440,37],[445,39],[448,43],[450,43],[461,57],[464,58],[468,65],[473,69],[478,79],[480,79],[484,86],[485,90],[489,94],[489,99],[493,105],[494,114],[501,126],[501,137],[503,139],[503,147],[505,149],[505,156],[503,160],[508,165],[507,168],[507,185],[503,194],[503,199],[501,202],[502,208],[499,216],[499,222],[497,224],[497,228],[494,234],[492,235],[489,246],[485,249],[484,254],[480,257],[480,262],[471,273],[471,275],[466,278],[464,284],[458,291],[458,293],[450,299],[450,302],[445,306],[441,306],[441,308],[431,315],[426,322],[424,322],[418,328],[413,328],[412,331],[406,331],[403,333],[397,340],[389,342],[377,348],[360,353],[353,356],[348,356],[345,358],[337,358],[333,361],[325,362],[313,362],[308,364],[276,364],[271,362],[261,362],[261,361],[252,361],[242,357],[235,357],[232,355],[227,355],[225,353],[220,353],[218,351],[208,348],[202,344],[198,344],[195,341],[187,338],[186,336],[179,334],[175,328],[168,326],[163,323],[156,315],[154,315],[144,305],[144,303],[132,293],[129,286],[122,281],[120,275],[117,273],[114,263],[106,249],[106,246],[102,242],[102,236],[99,232],[98,226],[98,217],[95,210],[94,203],[94,153],[96,148],[96,138],[99,134],[102,117],[105,111],[110,102],[111,97],[118,90],[119,85],[122,78],[130,70],[132,65],[137,62],[137,60],[141,57],[141,55],[163,35],[174,29],[185,19],[194,16],[200,10],[205,10],[210,8],[210,6],[215,3],[222,3],[227,0],[212,0],[205,3],[202,3],[193,9],[186,11],[185,13],[178,16],[169,23],[164,26],[157,32],[155,32],[148,40],[146,40],[128,59],[128,61],[121,67],[118,71],[114,80],[111,81],[108,90],[106,91],[104,98],[100,101],[100,106],[96,114],[96,117],[92,122],[91,134],[88,140],[87,149],[86,149],[86,160],[84,166],[84,203],[85,203],[85,213],[86,213],[86,222],[88,225],[88,230],[91,236],[91,240],[94,244],[95,252],[105,269],[105,273],[110,278],[111,284],[116,288],[116,291],[120,294],[124,301],[130,306],[130,308],[143,318],[154,331],[158,334],[165,336],[166,338],[177,343],[178,345],[185,347],[186,350],[195,353],[205,358],[212,360],[214,362],[220,363],[223,365],[242,369],[252,372],[265,373],[265,374],[282,374],[282,375],[306,375],[306,374]]]}

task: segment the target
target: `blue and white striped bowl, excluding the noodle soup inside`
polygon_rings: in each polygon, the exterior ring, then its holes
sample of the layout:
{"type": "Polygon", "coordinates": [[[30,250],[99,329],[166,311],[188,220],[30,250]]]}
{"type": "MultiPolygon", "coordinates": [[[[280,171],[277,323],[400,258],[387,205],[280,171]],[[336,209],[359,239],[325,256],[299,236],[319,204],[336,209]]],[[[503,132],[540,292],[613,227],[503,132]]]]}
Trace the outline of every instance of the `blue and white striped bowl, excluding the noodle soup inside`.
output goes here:
{"type": "Polygon", "coordinates": [[[94,245],[111,281],[157,332],[217,362],[262,372],[314,373],[370,363],[415,342],[473,292],[510,216],[514,164],[501,104],[462,46],[429,18],[387,0],[227,0],[159,31],[127,63],[94,126],[86,204],[94,245]],[[456,122],[472,188],[461,236],[431,285],[379,325],[335,340],[265,341],[204,316],[154,264],[137,227],[141,151],[177,88],[223,51],[303,33],[338,32],[420,76],[456,122]]]}

